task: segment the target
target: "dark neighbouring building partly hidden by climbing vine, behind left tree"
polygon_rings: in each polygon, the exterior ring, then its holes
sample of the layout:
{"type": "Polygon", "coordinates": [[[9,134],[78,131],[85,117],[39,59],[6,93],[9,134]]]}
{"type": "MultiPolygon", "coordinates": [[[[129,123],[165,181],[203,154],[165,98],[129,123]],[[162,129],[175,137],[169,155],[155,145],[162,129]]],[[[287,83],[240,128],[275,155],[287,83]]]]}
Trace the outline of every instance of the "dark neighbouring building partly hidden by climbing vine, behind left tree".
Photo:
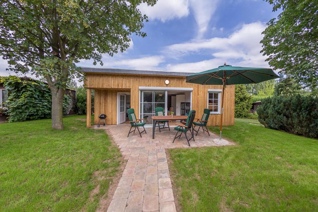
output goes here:
{"type": "MultiPolygon", "coordinates": [[[[76,91],[73,89],[66,89],[65,94],[69,95],[69,97],[71,98],[71,102],[69,107],[66,109],[66,113],[64,113],[63,116],[75,115],[76,91]]],[[[0,106],[5,106],[4,102],[8,98],[8,95],[10,95],[10,93],[8,93],[3,84],[0,83],[0,106]]],[[[7,118],[7,115],[0,116],[0,123],[8,121],[7,118]]]]}

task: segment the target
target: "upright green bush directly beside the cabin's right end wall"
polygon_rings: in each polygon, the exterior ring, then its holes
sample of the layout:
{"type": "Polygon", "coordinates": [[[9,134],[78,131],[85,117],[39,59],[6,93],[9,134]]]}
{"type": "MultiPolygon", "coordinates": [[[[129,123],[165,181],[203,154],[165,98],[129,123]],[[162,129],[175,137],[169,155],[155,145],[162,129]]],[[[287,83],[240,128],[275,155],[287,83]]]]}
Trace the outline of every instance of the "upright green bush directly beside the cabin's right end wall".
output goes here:
{"type": "Polygon", "coordinates": [[[245,85],[235,85],[234,117],[246,119],[252,107],[251,95],[247,93],[245,85]]]}

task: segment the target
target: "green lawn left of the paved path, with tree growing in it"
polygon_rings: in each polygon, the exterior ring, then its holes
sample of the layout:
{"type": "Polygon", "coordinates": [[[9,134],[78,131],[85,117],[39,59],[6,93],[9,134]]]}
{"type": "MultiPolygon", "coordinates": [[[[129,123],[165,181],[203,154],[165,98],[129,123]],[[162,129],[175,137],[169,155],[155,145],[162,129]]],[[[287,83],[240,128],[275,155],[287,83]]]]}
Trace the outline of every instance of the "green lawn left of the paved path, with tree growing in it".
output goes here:
{"type": "Polygon", "coordinates": [[[51,129],[51,120],[0,124],[0,211],[98,208],[121,154],[105,131],[86,128],[85,119],[65,117],[61,131],[51,129]]]}

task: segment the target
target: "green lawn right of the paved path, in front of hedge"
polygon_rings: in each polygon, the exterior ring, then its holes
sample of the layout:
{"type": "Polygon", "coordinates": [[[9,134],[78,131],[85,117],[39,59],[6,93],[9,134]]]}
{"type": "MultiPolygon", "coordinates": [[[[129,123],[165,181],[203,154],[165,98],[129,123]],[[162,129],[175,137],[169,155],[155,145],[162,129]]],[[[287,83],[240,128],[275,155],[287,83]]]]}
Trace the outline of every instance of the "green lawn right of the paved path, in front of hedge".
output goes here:
{"type": "Polygon", "coordinates": [[[181,211],[318,211],[318,140],[241,119],[223,135],[237,145],[169,149],[181,211]]]}

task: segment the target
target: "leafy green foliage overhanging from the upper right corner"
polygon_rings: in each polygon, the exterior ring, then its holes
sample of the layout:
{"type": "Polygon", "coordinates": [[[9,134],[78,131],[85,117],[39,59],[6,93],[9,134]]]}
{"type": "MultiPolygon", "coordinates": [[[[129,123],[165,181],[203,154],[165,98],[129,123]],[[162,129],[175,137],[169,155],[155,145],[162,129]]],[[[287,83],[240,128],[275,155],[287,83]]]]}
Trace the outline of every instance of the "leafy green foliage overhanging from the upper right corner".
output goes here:
{"type": "Polygon", "coordinates": [[[281,74],[303,87],[318,89],[318,1],[266,0],[273,11],[282,10],[263,31],[263,55],[281,74]]]}

